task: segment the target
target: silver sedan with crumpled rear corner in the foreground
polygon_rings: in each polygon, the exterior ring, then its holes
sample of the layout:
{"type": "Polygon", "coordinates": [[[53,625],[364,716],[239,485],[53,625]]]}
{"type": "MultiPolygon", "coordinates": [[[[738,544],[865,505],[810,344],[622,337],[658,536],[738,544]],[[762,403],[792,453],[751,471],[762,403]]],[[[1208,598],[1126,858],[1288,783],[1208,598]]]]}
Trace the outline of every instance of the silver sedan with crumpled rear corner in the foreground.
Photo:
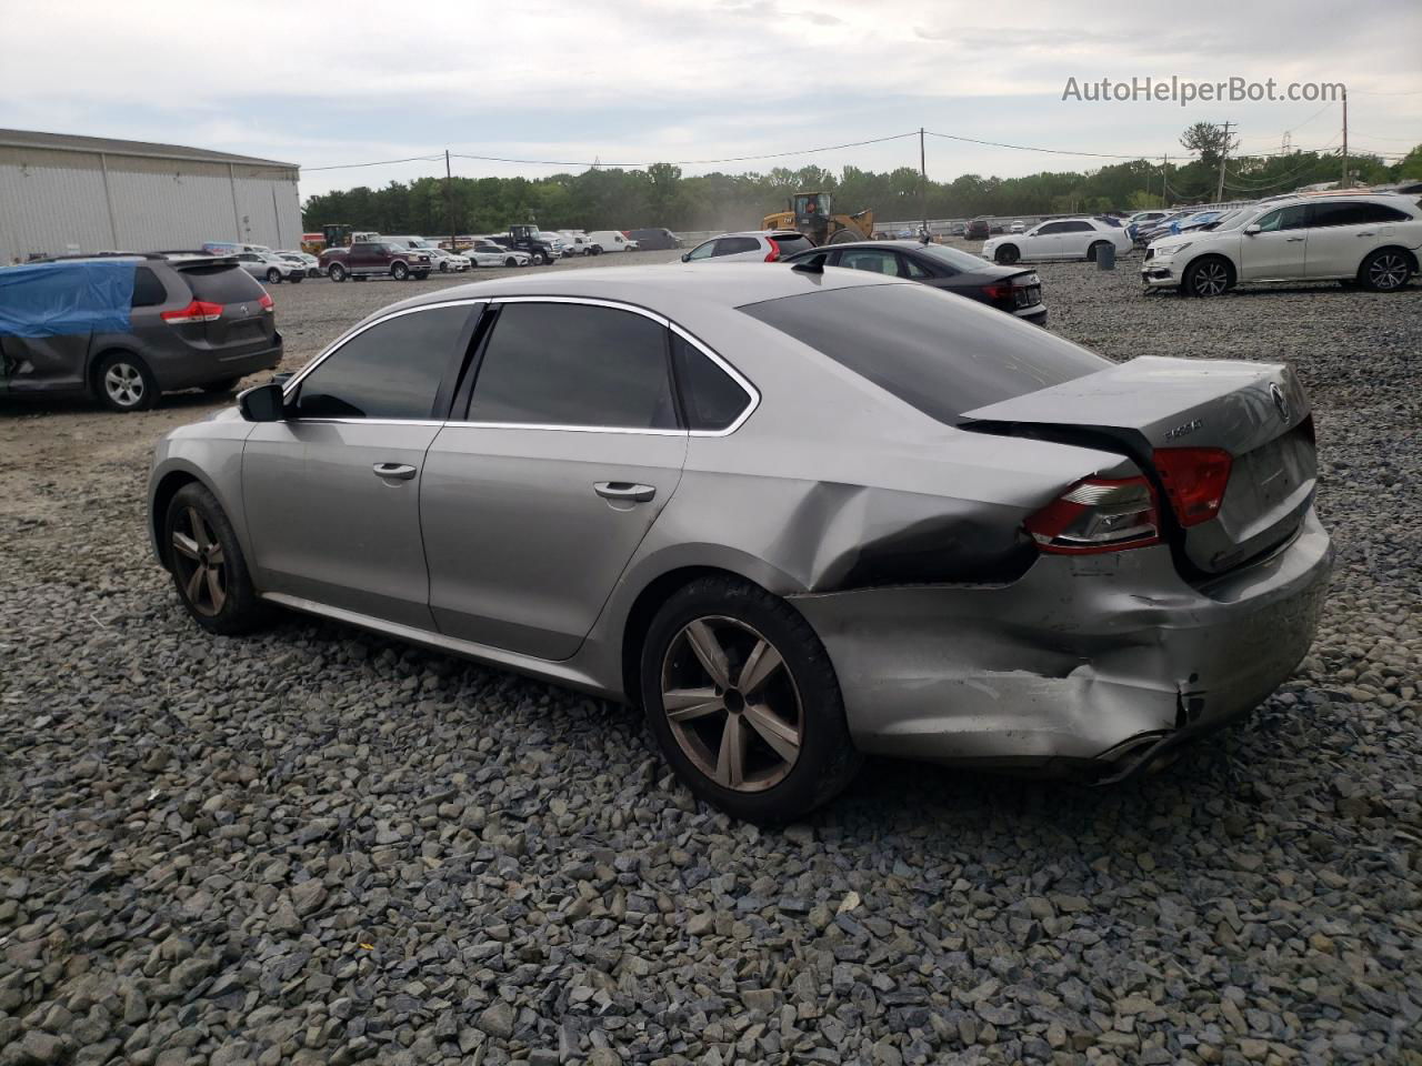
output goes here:
{"type": "Polygon", "coordinates": [[[388,307],[164,438],[148,515],[210,632],[284,607],[640,704],[776,820],[866,752],[1111,780],[1250,711],[1314,634],[1314,490],[1283,365],[657,266],[388,307]]]}

